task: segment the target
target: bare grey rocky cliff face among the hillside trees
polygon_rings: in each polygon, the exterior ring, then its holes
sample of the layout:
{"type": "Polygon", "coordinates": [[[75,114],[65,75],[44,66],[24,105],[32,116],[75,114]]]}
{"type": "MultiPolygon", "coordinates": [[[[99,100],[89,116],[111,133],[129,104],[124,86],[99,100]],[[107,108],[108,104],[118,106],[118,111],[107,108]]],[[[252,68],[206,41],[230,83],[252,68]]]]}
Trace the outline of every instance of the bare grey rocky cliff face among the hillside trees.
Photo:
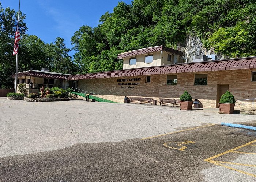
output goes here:
{"type": "MultiPolygon", "coordinates": [[[[203,47],[202,41],[199,37],[188,35],[186,39],[185,44],[178,44],[177,45],[180,48],[180,51],[182,51],[185,54],[185,58],[187,59],[187,62],[192,62],[194,55],[209,55],[214,54],[214,50],[211,48],[210,50],[207,50],[203,47]]],[[[218,59],[222,59],[222,55],[217,55],[218,59]]]]}

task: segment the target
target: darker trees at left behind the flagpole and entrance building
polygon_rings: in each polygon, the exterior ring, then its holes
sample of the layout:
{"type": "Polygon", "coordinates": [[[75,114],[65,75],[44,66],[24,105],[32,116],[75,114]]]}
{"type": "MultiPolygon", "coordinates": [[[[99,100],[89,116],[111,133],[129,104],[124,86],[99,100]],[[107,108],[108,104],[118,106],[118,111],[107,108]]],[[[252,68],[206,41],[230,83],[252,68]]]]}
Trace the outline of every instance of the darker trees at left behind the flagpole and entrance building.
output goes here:
{"type": "MultiPolygon", "coordinates": [[[[0,2],[0,88],[12,88],[14,80],[10,78],[15,73],[16,56],[12,56],[18,12],[14,9],[2,8],[0,2]]],[[[70,49],[64,44],[64,39],[57,37],[54,43],[45,44],[36,35],[27,35],[26,16],[20,13],[18,72],[42,67],[53,72],[72,74],[76,70],[70,49]]]]}

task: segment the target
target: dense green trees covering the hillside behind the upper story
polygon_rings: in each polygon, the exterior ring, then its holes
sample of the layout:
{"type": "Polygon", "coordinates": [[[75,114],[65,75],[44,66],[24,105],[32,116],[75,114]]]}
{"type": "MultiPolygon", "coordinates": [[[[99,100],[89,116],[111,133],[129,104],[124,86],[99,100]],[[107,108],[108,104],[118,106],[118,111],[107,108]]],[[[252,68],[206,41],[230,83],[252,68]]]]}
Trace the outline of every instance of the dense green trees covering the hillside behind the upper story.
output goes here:
{"type": "Polygon", "coordinates": [[[134,0],[118,3],[98,27],[82,26],[71,39],[80,73],[122,69],[120,52],[184,46],[188,35],[226,58],[256,55],[255,0],[134,0]]]}

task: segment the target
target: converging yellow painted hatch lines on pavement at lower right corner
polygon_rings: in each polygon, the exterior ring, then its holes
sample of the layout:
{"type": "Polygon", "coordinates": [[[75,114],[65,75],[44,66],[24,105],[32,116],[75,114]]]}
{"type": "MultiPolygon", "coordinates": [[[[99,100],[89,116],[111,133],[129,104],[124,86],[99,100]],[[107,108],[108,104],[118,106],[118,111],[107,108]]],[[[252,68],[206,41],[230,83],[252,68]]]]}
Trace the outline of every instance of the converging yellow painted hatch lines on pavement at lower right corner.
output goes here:
{"type": "Polygon", "coordinates": [[[252,176],[252,177],[256,177],[255,174],[251,174],[251,173],[248,173],[248,172],[246,172],[246,171],[242,171],[242,170],[236,169],[236,168],[234,168],[234,167],[225,166],[225,165],[223,165],[222,163],[233,164],[233,165],[240,165],[240,166],[251,166],[251,167],[256,167],[256,165],[249,165],[249,164],[242,164],[242,163],[234,163],[234,162],[224,162],[224,161],[215,161],[215,160],[212,160],[212,159],[214,159],[214,158],[220,157],[220,156],[225,155],[225,154],[227,154],[227,153],[256,154],[256,153],[246,153],[246,152],[235,151],[235,150],[240,149],[240,148],[242,148],[242,147],[245,147],[245,146],[248,146],[248,145],[252,145],[252,143],[255,143],[255,142],[256,142],[256,140],[251,141],[251,142],[248,142],[248,143],[245,143],[244,145],[238,146],[238,147],[236,147],[236,148],[234,148],[234,149],[231,149],[231,150],[228,150],[228,151],[223,152],[223,153],[221,153],[221,154],[217,154],[217,155],[214,155],[214,156],[209,157],[209,158],[207,158],[207,159],[204,159],[204,161],[213,163],[213,164],[218,165],[218,166],[225,167],[225,168],[227,168],[227,169],[231,169],[231,170],[237,171],[237,172],[242,173],[242,174],[246,174],[246,175],[249,175],[249,176],[252,176]]]}

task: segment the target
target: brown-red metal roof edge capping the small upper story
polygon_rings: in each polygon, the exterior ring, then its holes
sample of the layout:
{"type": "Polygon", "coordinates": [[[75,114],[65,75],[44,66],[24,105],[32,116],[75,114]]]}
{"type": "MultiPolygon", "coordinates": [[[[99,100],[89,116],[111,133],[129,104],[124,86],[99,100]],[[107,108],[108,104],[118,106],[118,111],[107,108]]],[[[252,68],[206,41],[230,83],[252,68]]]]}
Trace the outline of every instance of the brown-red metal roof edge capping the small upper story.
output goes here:
{"type": "Polygon", "coordinates": [[[136,56],[139,54],[148,54],[151,52],[158,52],[158,51],[166,51],[166,52],[170,52],[179,56],[184,56],[183,52],[169,48],[169,47],[165,47],[165,46],[155,46],[155,47],[148,47],[148,48],[144,48],[144,49],[138,49],[138,50],[133,50],[133,51],[129,51],[129,52],[124,52],[121,54],[118,54],[117,58],[118,59],[123,59],[125,57],[131,57],[131,56],[136,56]]]}

